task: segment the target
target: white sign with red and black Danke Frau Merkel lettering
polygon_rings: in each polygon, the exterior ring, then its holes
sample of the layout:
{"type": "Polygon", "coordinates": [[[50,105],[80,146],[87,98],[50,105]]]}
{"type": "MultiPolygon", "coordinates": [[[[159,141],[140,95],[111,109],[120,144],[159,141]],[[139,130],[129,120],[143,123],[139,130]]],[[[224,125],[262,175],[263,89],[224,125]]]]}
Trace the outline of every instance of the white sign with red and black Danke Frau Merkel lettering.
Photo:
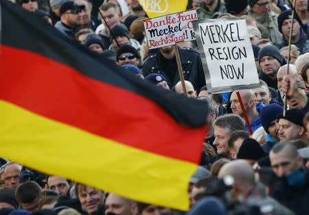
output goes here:
{"type": "Polygon", "coordinates": [[[191,21],[197,19],[194,9],[144,20],[149,49],[195,40],[191,21]]]}

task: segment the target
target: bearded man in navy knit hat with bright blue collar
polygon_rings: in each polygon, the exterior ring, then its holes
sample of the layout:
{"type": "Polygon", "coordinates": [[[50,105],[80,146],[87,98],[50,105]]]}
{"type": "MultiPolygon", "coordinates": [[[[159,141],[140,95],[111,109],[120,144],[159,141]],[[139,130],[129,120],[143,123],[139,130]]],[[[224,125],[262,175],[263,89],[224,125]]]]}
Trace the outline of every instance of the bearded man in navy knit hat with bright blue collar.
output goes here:
{"type": "Polygon", "coordinates": [[[282,114],[283,108],[282,106],[273,103],[271,105],[266,105],[260,114],[260,118],[262,121],[262,126],[264,130],[266,131],[265,140],[266,142],[262,144],[262,149],[264,152],[269,153],[271,151],[271,148],[279,142],[278,137],[278,119],[277,115],[282,114]]]}

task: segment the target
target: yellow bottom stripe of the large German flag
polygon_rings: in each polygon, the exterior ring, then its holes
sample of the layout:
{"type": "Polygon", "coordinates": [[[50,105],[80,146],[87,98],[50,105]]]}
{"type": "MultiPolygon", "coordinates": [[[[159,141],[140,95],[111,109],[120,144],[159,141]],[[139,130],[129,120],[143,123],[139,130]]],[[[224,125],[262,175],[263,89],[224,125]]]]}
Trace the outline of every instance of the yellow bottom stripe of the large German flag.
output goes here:
{"type": "Polygon", "coordinates": [[[156,205],[188,208],[196,164],[128,147],[0,101],[1,155],[44,173],[156,205]]]}

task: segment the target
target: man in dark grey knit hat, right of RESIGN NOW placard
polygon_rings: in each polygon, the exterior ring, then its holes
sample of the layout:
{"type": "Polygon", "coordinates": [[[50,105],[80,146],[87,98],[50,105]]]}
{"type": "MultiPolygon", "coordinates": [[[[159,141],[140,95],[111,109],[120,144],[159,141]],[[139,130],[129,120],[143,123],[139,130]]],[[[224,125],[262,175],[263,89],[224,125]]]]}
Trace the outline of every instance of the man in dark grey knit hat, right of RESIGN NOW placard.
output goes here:
{"type": "Polygon", "coordinates": [[[259,79],[265,81],[268,87],[277,89],[277,72],[286,60],[273,45],[263,47],[258,53],[258,59],[261,67],[259,79]]]}

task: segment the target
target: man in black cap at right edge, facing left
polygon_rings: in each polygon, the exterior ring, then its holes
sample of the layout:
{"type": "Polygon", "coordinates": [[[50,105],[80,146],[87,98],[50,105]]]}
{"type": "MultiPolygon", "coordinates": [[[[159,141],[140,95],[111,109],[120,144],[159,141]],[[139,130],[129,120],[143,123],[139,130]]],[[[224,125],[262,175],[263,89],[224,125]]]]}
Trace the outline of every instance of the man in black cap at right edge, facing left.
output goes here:
{"type": "Polygon", "coordinates": [[[303,125],[304,116],[304,111],[297,108],[287,110],[286,116],[283,116],[283,114],[278,115],[278,136],[280,141],[301,139],[308,143],[306,129],[303,125]]]}

